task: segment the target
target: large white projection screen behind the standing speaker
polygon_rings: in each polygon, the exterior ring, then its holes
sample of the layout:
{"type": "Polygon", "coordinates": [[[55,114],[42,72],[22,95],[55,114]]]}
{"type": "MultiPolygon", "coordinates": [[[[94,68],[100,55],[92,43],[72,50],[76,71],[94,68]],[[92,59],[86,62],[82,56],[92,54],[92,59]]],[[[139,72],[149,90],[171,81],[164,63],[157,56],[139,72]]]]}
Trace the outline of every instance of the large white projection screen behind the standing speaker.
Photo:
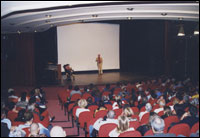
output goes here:
{"type": "MultiPolygon", "coordinates": [[[[70,64],[75,71],[97,70],[96,57],[103,58],[103,70],[119,69],[119,25],[80,23],[57,27],[58,64],[70,64]]],[[[64,69],[62,68],[62,71],[64,69]]]]}

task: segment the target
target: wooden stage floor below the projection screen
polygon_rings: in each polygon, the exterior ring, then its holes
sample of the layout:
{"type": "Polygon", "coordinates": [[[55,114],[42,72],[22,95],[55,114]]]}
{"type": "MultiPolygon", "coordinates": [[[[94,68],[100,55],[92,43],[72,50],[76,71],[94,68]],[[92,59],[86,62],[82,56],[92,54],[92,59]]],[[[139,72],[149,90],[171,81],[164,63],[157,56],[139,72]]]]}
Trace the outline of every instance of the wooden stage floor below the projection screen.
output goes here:
{"type": "Polygon", "coordinates": [[[128,72],[109,72],[103,75],[98,73],[87,73],[87,74],[75,74],[75,80],[68,81],[66,76],[62,76],[61,85],[88,85],[90,83],[103,85],[103,84],[114,84],[116,82],[136,82],[140,80],[151,79],[151,76],[133,74],[128,72]]]}

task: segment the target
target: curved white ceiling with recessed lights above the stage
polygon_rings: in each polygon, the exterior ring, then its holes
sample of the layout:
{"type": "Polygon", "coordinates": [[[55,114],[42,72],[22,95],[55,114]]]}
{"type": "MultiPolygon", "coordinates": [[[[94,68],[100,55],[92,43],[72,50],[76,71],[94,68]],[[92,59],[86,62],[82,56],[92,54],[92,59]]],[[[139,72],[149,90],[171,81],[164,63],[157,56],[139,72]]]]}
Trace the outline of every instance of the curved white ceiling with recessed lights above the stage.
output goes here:
{"type": "Polygon", "coordinates": [[[53,26],[105,20],[199,22],[198,1],[2,1],[1,33],[41,32],[53,26]]]}

